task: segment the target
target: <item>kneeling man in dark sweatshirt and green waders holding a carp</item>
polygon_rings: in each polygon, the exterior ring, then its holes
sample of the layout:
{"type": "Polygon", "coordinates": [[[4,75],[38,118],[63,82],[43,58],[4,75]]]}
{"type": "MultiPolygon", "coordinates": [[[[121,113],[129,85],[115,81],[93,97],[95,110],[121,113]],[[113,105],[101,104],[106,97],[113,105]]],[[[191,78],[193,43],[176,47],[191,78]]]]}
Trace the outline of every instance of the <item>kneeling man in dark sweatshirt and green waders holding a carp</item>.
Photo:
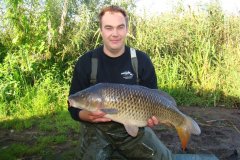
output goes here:
{"type": "MultiPolygon", "coordinates": [[[[93,58],[97,59],[96,82],[139,84],[157,88],[157,78],[149,57],[136,51],[137,71],[134,70],[130,48],[125,45],[128,33],[126,12],[117,6],[104,8],[99,14],[100,32],[103,46],[87,52],[76,63],[70,93],[74,94],[91,85],[93,58]],[[136,74],[138,73],[138,75],[136,74]],[[139,78],[139,82],[138,82],[139,78]]],[[[137,137],[126,132],[122,124],[105,118],[104,113],[79,110],[69,106],[73,119],[81,122],[80,149],[81,160],[109,159],[172,159],[171,152],[160,142],[151,129],[140,128],[137,137]]],[[[158,124],[153,116],[148,126],[158,124]]]]}

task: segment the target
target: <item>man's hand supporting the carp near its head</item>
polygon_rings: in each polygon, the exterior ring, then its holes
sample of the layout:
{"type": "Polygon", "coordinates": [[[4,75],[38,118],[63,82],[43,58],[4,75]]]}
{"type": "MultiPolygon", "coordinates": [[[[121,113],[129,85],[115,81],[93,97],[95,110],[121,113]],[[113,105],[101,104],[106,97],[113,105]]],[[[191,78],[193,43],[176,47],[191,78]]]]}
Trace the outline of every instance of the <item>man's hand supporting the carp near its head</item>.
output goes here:
{"type": "Polygon", "coordinates": [[[104,115],[105,113],[101,111],[89,112],[86,110],[81,110],[79,112],[79,117],[81,120],[92,122],[92,123],[111,121],[111,119],[105,118],[104,115]]]}

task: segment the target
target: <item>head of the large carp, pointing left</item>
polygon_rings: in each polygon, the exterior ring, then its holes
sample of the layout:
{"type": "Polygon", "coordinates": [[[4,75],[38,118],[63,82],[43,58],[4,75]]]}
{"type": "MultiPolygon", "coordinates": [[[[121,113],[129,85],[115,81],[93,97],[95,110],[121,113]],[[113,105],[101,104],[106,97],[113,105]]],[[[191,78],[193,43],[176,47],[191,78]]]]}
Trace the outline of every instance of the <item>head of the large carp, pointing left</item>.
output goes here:
{"type": "Polygon", "coordinates": [[[101,95],[87,89],[70,95],[68,102],[72,107],[88,111],[97,111],[102,106],[101,95]]]}

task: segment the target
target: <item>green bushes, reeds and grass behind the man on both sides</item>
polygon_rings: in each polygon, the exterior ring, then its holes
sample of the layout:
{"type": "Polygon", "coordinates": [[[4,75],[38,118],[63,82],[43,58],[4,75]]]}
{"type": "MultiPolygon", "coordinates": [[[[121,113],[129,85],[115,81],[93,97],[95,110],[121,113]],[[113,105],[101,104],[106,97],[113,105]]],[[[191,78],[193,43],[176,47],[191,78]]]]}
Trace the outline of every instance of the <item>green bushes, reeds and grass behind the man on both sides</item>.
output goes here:
{"type": "MultiPolygon", "coordinates": [[[[48,144],[65,143],[78,132],[66,105],[72,70],[80,55],[101,44],[97,13],[108,4],[113,2],[0,2],[0,128],[52,135],[38,135],[34,148],[22,143],[0,148],[2,159],[49,155],[42,151],[48,144]]],[[[134,14],[133,1],[119,5],[129,12],[127,43],[149,54],[160,89],[179,105],[239,107],[239,15],[224,15],[219,4],[211,4],[203,12],[179,5],[143,18],[134,14]]]]}

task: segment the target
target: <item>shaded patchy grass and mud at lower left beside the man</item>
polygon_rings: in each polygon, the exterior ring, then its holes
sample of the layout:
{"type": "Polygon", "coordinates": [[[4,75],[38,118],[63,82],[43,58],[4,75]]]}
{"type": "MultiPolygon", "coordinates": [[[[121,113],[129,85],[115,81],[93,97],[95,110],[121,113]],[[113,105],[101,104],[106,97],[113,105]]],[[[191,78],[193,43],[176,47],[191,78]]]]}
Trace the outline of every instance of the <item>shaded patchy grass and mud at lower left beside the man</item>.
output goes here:
{"type": "Polygon", "coordinates": [[[68,111],[0,121],[0,159],[73,159],[79,123],[68,111]]]}

